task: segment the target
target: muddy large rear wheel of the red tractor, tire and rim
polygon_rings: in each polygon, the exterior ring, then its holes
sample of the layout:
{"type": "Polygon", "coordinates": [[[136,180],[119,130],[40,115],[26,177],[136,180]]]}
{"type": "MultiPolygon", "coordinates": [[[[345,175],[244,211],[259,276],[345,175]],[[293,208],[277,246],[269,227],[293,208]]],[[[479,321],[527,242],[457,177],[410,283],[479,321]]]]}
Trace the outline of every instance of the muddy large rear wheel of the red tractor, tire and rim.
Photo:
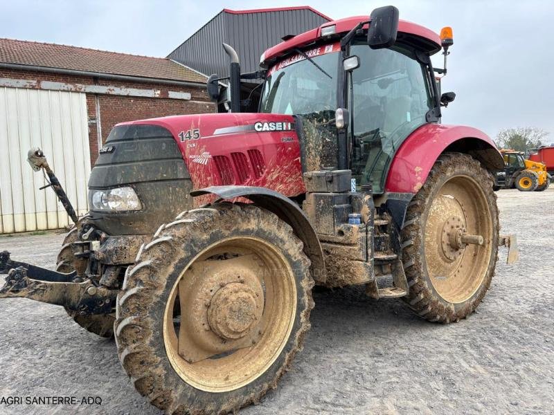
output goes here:
{"type": "Polygon", "coordinates": [[[488,291],[499,243],[493,183],[471,156],[447,153],[409,203],[402,228],[409,294],[403,299],[425,320],[458,322],[488,291]],[[481,246],[465,239],[479,236],[481,246]]]}

